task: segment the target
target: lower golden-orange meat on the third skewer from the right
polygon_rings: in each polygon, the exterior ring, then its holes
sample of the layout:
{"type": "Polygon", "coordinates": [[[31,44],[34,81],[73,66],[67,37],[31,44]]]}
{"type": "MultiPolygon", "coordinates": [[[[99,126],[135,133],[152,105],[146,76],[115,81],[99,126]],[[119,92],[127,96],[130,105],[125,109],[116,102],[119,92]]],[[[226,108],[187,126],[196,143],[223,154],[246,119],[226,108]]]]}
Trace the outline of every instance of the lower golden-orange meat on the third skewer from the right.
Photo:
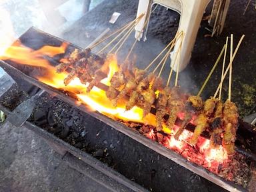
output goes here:
{"type": "Polygon", "coordinates": [[[192,138],[190,139],[191,145],[197,144],[198,138],[205,131],[205,129],[209,126],[208,125],[208,118],[205,114],[200,114],[197,119],[195,120],[195,124],[197,125],[195,127],[195,131],[193,133],[192,138]]]}

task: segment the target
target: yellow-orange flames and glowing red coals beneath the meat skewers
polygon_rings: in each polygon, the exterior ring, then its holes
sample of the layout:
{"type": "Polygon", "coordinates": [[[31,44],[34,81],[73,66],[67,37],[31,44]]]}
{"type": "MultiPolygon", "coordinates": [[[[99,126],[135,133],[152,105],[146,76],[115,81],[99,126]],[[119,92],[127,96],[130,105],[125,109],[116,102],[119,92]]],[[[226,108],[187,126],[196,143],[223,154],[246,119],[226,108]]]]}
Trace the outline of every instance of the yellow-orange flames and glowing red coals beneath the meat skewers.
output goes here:
{"type": "MultiPolygon", "coordinates": [[[[59,47],[47,45],[41,47],[41,49],[33,50],[23,46],[20,41],[16,41],[13,46],[9,47],[5,53],[1,55],[0,59],[13,61],[17,64],[27,65],[31,67],[31,69],[35,68],[43,71],[35,75],[34,78],[51,87],[75,95],[77,105],[86,105],[93,111],[98,111],[107,117],[123,121],[125,125],[137,123],[136,125],[141,127],[146,126],[146,131],[143,131],[146,137],[176,151],[189,161],[197,163],[213,173],[219,173],[219,171],[221,171],[220,167],[225,167],[225,165],[228,164],[229,157],[223,147],[220,145],[217,149],[211,149],[209,139],[199,137],[197,145],[193,147],[188,143],[193,135],[190,131],[183,131],[179,140],[175,139],[174,135],[179,129],[178,125],[175,125],[172,130],[163,126],[164,133],[157,133],[154,129],[156,126],[156,118],[152,113],[149,113],[143,118],[143,110],[141,108],[133,107],[131,110],[126,111],[125,102],[119,102],[117,107],[114,107],[113,103],[107,98],[105,91],[98,87],[93,87],[93,89],[87,93],[88,85],[81,83],[77,77],[66,86],[63,80],[67,77],[67,72],[56,73],[56,67],[51,65],[47,57],[55,57],[55,55],[65,53],[67,46],[67,43],[63,43],[59,47]]],[[[110,80],[113,74],[119,71],[119,66],[117,65],[117,58],[114,56],[108,57],[105,62],[107,62],[109,66],[109,73],[105,79],[101,80],[101,83],[110,85],[110,80]]],[[[182,119],[184,114],[179,114],[178,116],[182,119]]],[[[193,123],[193,121],[191,123],[193,123]]],[[[226,175],[226,179],[232,180],[231,176],[229,177],[228,175],[226,175]]]]}

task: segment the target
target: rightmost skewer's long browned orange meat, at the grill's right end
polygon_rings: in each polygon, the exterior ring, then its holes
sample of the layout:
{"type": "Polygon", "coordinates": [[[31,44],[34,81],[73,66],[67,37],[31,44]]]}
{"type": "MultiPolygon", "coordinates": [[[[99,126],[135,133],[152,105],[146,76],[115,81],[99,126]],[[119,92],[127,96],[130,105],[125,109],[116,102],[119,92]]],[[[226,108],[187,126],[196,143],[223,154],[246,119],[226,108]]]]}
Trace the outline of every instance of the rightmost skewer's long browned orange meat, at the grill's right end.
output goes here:
{"type": "Polygon", "coordinates": [[[238,124],[238,113],[235,103],[227,100],[223,109],[224,134],[222,145],[226,149],[228,155],[235,153],[235,137],[238,124]]]}

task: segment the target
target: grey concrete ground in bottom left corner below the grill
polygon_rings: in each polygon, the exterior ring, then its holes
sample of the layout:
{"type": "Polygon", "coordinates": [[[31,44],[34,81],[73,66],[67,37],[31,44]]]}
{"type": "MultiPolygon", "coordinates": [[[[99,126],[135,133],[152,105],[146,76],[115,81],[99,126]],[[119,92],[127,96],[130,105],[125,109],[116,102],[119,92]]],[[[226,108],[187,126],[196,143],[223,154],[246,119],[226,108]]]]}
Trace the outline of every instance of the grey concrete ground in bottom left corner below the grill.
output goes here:
{"type": "Polygon", "coordinates": [[[25,127],[0,125],[0,191],[103,191],[25,127]]]}

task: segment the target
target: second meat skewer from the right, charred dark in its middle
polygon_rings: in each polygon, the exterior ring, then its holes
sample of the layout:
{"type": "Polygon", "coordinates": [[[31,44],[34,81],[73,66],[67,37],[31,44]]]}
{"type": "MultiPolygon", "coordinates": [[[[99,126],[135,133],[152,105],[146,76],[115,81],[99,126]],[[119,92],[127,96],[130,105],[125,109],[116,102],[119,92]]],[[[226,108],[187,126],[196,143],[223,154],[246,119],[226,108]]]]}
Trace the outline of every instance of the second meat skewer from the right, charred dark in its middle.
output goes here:
{"type": "Polygon", "coordinates": [[[221,145],[221,133],[223,132],[222,128],[222,109],[223,103],[221,101],[217,101],[215,107],[214,119],[211,122],[211,138],[210,138],[210,146],[216,148],[221,145]]]}

